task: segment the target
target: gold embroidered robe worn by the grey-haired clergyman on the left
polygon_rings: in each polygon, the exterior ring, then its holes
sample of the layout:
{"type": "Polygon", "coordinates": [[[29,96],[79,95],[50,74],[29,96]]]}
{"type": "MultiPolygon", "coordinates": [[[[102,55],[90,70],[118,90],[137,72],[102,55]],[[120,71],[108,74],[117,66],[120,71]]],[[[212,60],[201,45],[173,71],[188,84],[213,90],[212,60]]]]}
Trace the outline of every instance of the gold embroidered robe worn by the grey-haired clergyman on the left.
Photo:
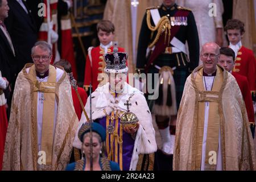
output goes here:
{"type": "MultiPolygon", "coordinates": [[[[32,65],[26,64],[16,80],[6,135],[3,170],[63,170],[69,162],[73,138],[78,126],[71,85],[66,72],[55,84],[57,113],[51,164],[46,165],[45,168],[38,168],[38,159],[41,155],[38,155],[37,105],[33,97],[35,83],[30,80],[26,72],[26,68],[32,65]]],[[[52,68],[55,69],[50,65],[49,77],[52,68]]]]}

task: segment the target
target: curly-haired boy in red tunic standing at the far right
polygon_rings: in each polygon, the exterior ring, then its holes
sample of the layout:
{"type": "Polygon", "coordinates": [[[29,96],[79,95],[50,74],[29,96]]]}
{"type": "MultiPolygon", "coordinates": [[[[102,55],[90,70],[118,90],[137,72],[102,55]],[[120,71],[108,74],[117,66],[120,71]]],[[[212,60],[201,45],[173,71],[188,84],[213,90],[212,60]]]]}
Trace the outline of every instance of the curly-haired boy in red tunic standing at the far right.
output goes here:
{"type": "MultiPolygon", "coordinates": [[[[243,75],[249,82],[250,91],[255,95],[256,88],[256,60],[251,49],[242,46],[241,39],[245,24],[238,19],[230,19],[226,23],[225,31],[229,39],[229,47],[236,54],[233,72],[243,75]]],[[[255,96],[254,96],[255,98],[255,96]]]]}

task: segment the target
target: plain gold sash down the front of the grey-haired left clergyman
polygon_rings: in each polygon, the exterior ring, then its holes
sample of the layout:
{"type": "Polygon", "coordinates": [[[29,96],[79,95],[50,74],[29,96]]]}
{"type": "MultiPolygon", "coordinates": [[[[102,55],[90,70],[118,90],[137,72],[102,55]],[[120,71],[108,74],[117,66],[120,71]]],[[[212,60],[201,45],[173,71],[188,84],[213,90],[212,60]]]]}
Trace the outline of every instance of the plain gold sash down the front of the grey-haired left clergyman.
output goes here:
{"type": "MultiPolygon", "coordinates": [[[[42,138],[41,151],[46,152],[46,164],[52,162],[53,148],[53,129],[55,118],[55,86],[56,86],[56,69],[49,65],[49,77],[47,82],[39,82],[36,80],[35,65],[32,65],[28,72],[28,78],[33,82],[34,109],[38,105],[38,92],[44,93],[43,101],[43,122],[42,122],[42,138]]],[[[36,114],[37,115],[37,114],[36,114]]]]}

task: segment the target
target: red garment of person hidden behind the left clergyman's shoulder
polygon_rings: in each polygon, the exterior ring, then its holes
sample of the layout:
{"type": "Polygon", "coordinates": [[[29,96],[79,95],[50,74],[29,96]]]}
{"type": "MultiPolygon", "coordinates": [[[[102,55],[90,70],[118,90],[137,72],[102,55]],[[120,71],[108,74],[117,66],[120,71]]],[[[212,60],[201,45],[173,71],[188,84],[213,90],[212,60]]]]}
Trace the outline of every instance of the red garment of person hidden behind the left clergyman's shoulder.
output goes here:
{"type": "MultiPolygon", "coordinates": [[[[77,87],[77,91],[81,97],[81,100],[82,100],[82,104],[85,106],[86,104],[86,101],[87,101],[87,93],[85,92],[85,90],[81,87],[77,87]]],[[[73,100],[73,105],[75,107],[75,111],[76,111],[76,115],[77,115],[77,118],[81,119],[81,115],[82,115],[82,106],[80,104],[80,101],[79,101],[79,98],[76,94],[76,91],[75,89],[72,88],[72,100],[73,100]]]]}

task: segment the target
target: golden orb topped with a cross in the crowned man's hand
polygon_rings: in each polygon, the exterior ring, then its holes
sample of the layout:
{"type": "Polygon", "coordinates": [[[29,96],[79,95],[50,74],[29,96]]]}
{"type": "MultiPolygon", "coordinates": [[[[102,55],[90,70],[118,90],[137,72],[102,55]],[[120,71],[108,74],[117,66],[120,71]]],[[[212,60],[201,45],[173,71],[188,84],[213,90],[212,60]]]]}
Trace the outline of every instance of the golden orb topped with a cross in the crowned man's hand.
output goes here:
{"type": "Polygon", "coordinates": [[[127,106],[127,112],[121,115],[120,123],[123,127],[134,128],[137,126],[139,119],[129,110],[129,106],[131,106],[129,101],[126,101],[125,105],[127,106]]]}

